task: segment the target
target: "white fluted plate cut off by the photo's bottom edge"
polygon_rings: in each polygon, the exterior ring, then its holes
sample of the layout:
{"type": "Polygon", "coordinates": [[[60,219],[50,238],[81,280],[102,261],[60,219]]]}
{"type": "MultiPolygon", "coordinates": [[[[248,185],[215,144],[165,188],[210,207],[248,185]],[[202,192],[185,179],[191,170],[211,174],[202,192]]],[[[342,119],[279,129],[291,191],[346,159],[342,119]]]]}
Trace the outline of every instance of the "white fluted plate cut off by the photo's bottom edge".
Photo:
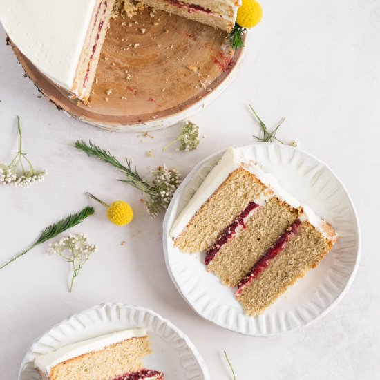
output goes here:
{"type": "Polygon", "coordinates": [[[153,353],[144,366],[164,372],[167,380],[210,380],[202,357],[190,339],[159,314],[123,303],[104,303],[70,316],[36,339],[23,359],[19,380],[40,380],[33,362],[46,352],[71,343],[130,328],[145,328],[153,353]]]}

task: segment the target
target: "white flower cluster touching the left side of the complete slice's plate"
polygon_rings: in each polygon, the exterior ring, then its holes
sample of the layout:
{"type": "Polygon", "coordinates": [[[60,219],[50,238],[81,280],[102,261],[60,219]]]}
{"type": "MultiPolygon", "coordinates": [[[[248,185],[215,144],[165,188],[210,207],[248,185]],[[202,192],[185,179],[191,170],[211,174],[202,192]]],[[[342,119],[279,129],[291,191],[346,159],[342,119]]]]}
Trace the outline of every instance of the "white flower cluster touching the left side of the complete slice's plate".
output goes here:
{"type": "Polygon", "coordinates": [[[164,164],[156,170],[152,170],[154,184],[158,189],[158,195],[151,196],[148,203],[148,212],[154,218],[160,209],[166,209],[173,198],[175,190],[181,183],[181,174],[176,169],[168,169],[164,164]]]}

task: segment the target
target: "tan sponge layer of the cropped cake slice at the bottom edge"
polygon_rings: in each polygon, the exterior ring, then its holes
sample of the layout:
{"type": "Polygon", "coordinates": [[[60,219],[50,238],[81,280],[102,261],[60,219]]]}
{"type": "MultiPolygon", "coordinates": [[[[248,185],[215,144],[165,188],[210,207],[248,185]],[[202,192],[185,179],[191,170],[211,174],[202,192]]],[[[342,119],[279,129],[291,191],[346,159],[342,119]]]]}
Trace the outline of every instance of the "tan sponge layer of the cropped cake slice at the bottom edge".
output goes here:
{"type": "Polygon", "coordinates": [[[140,370],[142,358],[150,353],[148,336],[127,339],[55,365],[50,371],[50,379],[114,379],[126,372],[140,370]]]}

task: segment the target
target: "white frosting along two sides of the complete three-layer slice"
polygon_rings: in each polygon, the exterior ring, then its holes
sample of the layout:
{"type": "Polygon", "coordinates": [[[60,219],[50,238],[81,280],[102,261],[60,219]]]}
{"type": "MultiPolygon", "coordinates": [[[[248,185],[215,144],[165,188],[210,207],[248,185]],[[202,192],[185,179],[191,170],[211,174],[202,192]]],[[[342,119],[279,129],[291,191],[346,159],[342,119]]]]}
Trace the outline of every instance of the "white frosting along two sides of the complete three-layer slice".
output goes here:
{"type": "Polygon", "coordinates": [[[240,149],[229,148],[222,156],[216,167],[214,167],[205,180],[202,182],[193,198],[181,211],[178,218],[173,223],[173,227],[169,232],[169,235],[173,238],[177,238],[184,228],[187,226],[191,218],[196,214],[198,209],[206,202],[207,199],[220,187],[220,185],[228,178],[229,174],[236,169],[243,167],[243,169],[253,173],[258,180],[267,185],[267,189],[260,194],[259,198],[255,199],[258,205],[263,206],[265,202],[272,196],[277,196],[279,199],[287,202],[295,209],[302,207],[303,213],[301,214],[301,221],[308,220],[314,227],[319,229],[322,233],[321,228],[323,220],[310,209],[309,206],[301,204],[294,196],[289,194],[283,187],[281,187],[274,175],[269,173],[264,173],[262,169],[254,162],[248,161],[244,158],[243,153],[240,149]]]}

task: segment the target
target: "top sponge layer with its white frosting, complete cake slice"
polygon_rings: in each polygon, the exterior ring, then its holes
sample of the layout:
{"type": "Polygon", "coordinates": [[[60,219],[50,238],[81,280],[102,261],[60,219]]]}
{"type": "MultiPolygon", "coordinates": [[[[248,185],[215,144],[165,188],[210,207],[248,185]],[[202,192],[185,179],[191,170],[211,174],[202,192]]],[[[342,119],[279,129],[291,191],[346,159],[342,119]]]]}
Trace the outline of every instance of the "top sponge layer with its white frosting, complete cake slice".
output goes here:
{"type": "Polygon", "coordinates": [[[237,149],[227,149],[173,223],[175,247],[187,253],[209,249],[247,207],[271,195],[258,168],[237,149]]]}

